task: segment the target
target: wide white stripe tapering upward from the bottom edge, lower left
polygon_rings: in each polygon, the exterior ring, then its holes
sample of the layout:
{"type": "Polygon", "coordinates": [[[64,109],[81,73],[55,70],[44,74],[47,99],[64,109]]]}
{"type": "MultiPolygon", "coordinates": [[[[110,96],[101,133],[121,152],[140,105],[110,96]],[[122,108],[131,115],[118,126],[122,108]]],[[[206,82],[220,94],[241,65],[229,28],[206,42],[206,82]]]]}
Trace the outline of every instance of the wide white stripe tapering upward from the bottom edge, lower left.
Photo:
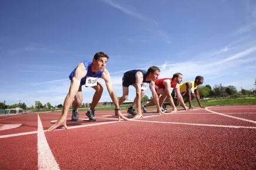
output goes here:
{"type": "Polygon", "coordinates": [[[44,129],[42,128],[42,122],[38,115],[38,133],[37,133],[37,152],[38,152],[38,169],[39,170],[57,170],[60,169],[51,149],[47,143],[47,139],[44,135],[44,129]]]}

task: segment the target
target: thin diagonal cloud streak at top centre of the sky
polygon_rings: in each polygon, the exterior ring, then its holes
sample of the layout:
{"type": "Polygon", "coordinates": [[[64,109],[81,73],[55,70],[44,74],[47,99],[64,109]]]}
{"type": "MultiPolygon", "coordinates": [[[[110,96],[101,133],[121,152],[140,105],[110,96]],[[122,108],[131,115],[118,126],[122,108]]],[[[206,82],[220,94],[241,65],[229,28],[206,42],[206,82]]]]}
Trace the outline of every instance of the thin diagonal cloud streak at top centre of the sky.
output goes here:
{"type": "MultiPolygon", "coordinates": [[[[114,2],[111,0],[101,0],[101,1],[105,2],[106,4],[108,4],[110,6],[113,6],[114,8],[119,9],[124,14],[127,14],[127,15],[132,16],[137,19],[140,19],[140,20],[146,22],[147,24],[151,25],[151,28],[146,28],[146,30],[151,32],[153,35],[157,35],[160,39],[162,39],[162,41],[165,41],[166,43],[170,44],[170,38],[168,36],[168,33],[163,31],[163,29],[160,29],[160,26],[155,19],[148,18],[148,17],[140,14],[140,12],[138,12],[137,9],[134,8],[134,6],[121,5],[121,4],[118,4],[117,2],[114,2]]],[[[131,41],[130,38],[129,38],[129,41],[131,41]]],[[[143,40],[143,42],[144,41],[147,42],[147,40],[143,40]]]]}

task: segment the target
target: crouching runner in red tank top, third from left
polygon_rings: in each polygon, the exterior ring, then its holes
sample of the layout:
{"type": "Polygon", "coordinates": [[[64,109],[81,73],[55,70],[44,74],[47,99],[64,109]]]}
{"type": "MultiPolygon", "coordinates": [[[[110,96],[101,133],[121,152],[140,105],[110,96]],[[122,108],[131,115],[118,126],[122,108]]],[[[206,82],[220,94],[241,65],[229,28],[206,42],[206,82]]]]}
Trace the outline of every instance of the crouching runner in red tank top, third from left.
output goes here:
{"type": "Polygon", "coordinates": [[[168,98],[169,103],[172,106],[172,113],[176,113],[177,108],[173,102],[173,98],[171,95],[173,89],[175,89],[175,93],[177,94],[177,97],[179,98],[183,108],[186,111],[188,111],[189,109],[186,107],[183,101],[182,95],[179,92],[179,84],[180,82],[182,82],[182,78],[183,78],[183,75],[178,72],[173,74],[172,78],[162,78],[162,79],[157,79],[155,82],[150,82],[150,90],[152,92],[153,100],[142,106],[143,112],[146,112],[147,106],[153,106],[155,104],[157,106],[157,111],[159,111],[160,106],[162,106],[165,99],[168,98]]]}

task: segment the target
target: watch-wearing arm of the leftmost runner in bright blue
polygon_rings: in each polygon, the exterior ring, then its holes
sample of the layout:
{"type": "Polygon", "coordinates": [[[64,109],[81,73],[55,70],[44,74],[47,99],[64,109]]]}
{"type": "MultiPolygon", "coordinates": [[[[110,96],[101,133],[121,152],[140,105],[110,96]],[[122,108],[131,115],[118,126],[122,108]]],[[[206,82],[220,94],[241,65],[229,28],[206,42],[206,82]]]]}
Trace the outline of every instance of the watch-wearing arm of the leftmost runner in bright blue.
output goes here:
{"type": "MultiPolygon", "coordinates": [[[[104,69],[104,72],[103,72],[101,78],[103,78],[106,83],[107,91],[109,92],[109,95],[114,104],[114,107],[116,109],[119,109],[118,99],[117,99],[116,93],[113,90],[113,85],[111,82],[110,74],[109,74],[109,71],[107,71],[107,69],[104,69]]],[[[118,118],[119,118],[119,121],[120,121],[120,118],[122,118],[126,121],[130,121],[130,119],[126,118],[126,116],[124,116],[120,110],[118,110],[118,118]]]]}

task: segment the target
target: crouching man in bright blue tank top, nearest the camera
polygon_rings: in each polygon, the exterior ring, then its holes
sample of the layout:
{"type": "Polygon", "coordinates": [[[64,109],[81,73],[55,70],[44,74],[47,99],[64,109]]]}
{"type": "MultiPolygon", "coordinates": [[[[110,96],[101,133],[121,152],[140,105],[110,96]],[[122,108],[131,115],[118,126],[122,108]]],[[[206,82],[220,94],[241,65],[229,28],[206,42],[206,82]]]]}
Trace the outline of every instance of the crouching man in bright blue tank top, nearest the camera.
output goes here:
{"type": "Polygon", "coordinates": [[[113,104],[115,106],[115,113],[120,118],[122,117],[125,120],[129,120],[125,116],[123,116],[122,112],[119,108],[118,99],[116,96],[116,93],[113,90],[113,85],[111,82],[109,71],[107,71],[106,64],[109,59],[109,56],[104,54],[104,52],[97,52],[94,55],[93,62],[80,62],[76,69],[74,69],[69,78],[71,80],[70,89],[69,92],[65,98],[64,104],[63,104],[63,112],[60,118],[58,118],[57,122],[52,125],[47,131],[52,131],[53,129],[57,128],[60,125],[64,125],[64,127],[67,129],[67,114],[68,109],[70,108],[70,105],[72,104],[72,120],[77,121],[78,120],[78,107],[83,102],[83,94],[82,94],[82,85],[90,86],[91,88],[95,89],[95,94],[93,96],[93,101],[91,102],[90,109],[87,111],[86,115],[88,116],[90,121],[96,121],[96,118],[94,116],[94,108],[100,101],[103,87],[102,85],[97,81],[97,78],[104,79],[107,90],[109,91],[109,95],[113,101],[113,104]]]}

